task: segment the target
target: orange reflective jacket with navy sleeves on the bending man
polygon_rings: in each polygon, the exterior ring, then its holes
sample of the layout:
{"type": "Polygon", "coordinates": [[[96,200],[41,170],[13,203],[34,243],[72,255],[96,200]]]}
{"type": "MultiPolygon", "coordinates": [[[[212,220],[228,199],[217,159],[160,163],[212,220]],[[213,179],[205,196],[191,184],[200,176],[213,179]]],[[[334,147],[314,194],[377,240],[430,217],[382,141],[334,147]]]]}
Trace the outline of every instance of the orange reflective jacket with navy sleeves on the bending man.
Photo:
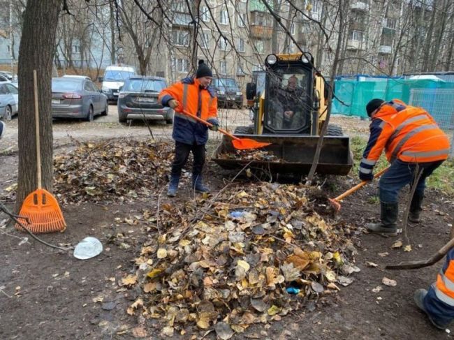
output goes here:
{"type": "Polygon", "coordinates": [[[372,117],[360,172],[371,173],[383,149],[390,163],[396,158],[407,163],[442,161],[448,158],[449,140],[425,110],[394,99],[372,117]]]}

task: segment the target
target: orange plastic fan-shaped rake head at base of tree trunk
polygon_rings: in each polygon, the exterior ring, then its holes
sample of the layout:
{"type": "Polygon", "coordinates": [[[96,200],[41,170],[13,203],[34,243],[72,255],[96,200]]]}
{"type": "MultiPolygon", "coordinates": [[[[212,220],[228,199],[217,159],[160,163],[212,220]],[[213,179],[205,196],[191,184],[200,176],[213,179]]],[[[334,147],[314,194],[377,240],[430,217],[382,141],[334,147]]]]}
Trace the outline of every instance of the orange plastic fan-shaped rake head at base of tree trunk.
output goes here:
{"type": "MultiPolygon", "coordinates": [[[[37,189],[30,193],[22,203],[19,215],[17,219],[20,223],[35,234],[62,232],[66,229],[66,222],[57,200],[45,189],[37,189]]],[[[24,231],[18,223],[15,228],[24,231]]]]}

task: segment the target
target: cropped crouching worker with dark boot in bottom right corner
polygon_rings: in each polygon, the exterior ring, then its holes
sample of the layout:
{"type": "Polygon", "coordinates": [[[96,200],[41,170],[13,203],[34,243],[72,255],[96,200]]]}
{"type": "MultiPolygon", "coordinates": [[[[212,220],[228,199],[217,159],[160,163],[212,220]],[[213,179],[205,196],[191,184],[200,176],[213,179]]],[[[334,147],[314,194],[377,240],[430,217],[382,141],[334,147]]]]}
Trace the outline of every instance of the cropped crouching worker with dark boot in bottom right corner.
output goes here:
{"type": "Polygon", "coordinates": [[[448,251],[437,275],[437,282],[429,290],[416,290],[414,300],[416,306],[427,314],[432,325],[440,330],[446,330],[454,320],[454,248],[448,251]]]}

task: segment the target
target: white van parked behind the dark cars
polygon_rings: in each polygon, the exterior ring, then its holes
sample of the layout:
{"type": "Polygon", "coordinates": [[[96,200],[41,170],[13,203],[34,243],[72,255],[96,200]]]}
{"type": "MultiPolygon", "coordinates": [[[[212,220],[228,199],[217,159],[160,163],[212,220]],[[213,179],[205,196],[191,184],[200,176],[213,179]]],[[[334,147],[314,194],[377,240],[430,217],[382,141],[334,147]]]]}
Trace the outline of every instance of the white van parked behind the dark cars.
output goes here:
{"type": "Polygon", "coordinates": [[[136,68],[127,65],[110,65],[105,68],[104,76],[98,77],[98,81],[103,83],[103,94],[109,101],[117,101],[119,88],[123,86],[124,80],[136,75],[136,68]]]}

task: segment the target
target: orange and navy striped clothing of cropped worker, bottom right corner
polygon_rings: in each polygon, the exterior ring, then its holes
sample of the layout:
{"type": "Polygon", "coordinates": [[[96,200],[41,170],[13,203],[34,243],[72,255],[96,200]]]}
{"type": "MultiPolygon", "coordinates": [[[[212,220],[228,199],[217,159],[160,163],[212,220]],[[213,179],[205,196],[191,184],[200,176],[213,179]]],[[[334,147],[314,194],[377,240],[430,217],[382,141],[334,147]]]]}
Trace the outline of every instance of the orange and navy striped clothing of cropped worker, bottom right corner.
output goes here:
{"type": "Polygon", "coordinates": [[[454,319],[454,248],[448,251],[437,282],[427,291],[424,306],[427,312],[441,323],[454,319]]]}

